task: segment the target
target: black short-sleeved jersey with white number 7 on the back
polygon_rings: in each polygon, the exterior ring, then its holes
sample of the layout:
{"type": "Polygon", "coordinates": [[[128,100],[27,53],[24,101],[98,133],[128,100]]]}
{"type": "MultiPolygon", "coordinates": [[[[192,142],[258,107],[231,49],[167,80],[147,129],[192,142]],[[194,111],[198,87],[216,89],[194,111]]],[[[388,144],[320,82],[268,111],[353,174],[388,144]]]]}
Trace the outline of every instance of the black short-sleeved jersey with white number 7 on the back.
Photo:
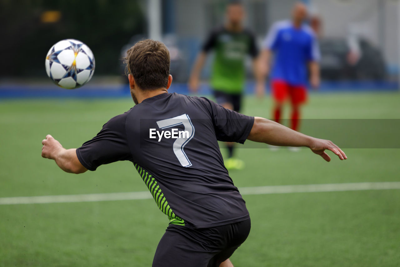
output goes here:
{"type": "Polygon", "coordinates": [[[106,124],[76,150],[88,170],[130,160],[170,224],[205,228],[246,220],[217,140],[244,143],[254,117],[203,97],[163,93],[106,124]]]}

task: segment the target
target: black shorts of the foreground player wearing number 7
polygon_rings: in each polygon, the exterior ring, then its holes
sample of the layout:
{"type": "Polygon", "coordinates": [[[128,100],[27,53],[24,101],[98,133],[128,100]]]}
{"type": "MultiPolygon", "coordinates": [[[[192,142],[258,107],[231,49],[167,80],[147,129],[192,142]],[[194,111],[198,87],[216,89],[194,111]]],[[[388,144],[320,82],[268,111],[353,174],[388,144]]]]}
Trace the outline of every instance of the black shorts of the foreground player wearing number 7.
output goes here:
{"type": "Polygon", "coordinates": [[[246,240],[250,219],[192,229],[169,225],[158,243],[152,267],[218,267],[246,240]]]}

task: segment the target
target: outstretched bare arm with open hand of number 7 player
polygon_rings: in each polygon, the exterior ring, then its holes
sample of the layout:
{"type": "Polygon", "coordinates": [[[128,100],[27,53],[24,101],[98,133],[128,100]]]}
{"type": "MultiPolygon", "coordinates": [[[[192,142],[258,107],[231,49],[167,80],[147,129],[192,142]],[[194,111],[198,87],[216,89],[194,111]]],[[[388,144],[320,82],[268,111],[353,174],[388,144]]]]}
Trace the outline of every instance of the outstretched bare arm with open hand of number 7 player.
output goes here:
{"type": "Polygon", "coordinates": [[[332,151],[340,158],[340,160],[347,159],[346,154],[344,154],[344,152],[338,146],[329,140],[307,136],[280,123],[276,123],[275,121],[264,119],[262,117],[254,118],[253,127],[247,139],[274,146],[308,147],[312,152],[320,155],[328,162],[330,161],[330,156],[326,154],[325,150],[332,151]]]}

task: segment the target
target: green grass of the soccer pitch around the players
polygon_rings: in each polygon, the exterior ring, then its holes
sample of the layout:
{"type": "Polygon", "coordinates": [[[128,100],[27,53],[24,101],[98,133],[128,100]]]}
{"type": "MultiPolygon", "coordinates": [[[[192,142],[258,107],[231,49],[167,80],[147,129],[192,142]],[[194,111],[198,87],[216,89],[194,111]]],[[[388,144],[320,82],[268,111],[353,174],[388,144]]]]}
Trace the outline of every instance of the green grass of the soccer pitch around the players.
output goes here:
{"type": "MultiPolygon", "coordinates": [[[[399,102],[400,93],[314,94],[303,115],[400,119],[399,102]]],[[[0,100],[0,198],[146,191],[130,162],[73,175],[40,157],[46,134],[78,147],[131,106],[130,99],[0,100]]],[[[244,113],[270,117],[270,106],[248,97],[244,113]]],[[[230,175],[238,187],[400,181],[400,149],[345,152],[347,161],[327,163],[306,149],[243,148],[246,168],[230,175]]],[[[400,266],[400,190],[244,198],[252,231],[231,258],[235,267],[400,266]]],[[[152,199],[0,205],[0,266],[151,266],[167,225],[152,199]]]]}

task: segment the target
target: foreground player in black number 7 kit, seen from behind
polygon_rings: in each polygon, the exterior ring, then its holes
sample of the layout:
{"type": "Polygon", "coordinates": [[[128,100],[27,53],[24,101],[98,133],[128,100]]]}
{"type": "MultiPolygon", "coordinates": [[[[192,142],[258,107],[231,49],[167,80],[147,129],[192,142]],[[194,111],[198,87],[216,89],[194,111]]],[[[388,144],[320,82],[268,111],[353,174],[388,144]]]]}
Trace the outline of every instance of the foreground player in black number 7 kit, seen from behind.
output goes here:
{"type": "Polygon", "coordinates": [[[136,105],[110,119],[80,148],[65,149],[47,135],[42,157],[76,174],[119,160],[132,162],[170,221],[153,267],[233,266],[228,258],[246,240],[250,216],[224,167],[218,140],[307,146],[326,161],[330,157],[324,150],[346,159],[328,140],[242,115],[204,97],[168,93],[170,57],[162,42],[136,43],[126,61],[136,105]]]}

